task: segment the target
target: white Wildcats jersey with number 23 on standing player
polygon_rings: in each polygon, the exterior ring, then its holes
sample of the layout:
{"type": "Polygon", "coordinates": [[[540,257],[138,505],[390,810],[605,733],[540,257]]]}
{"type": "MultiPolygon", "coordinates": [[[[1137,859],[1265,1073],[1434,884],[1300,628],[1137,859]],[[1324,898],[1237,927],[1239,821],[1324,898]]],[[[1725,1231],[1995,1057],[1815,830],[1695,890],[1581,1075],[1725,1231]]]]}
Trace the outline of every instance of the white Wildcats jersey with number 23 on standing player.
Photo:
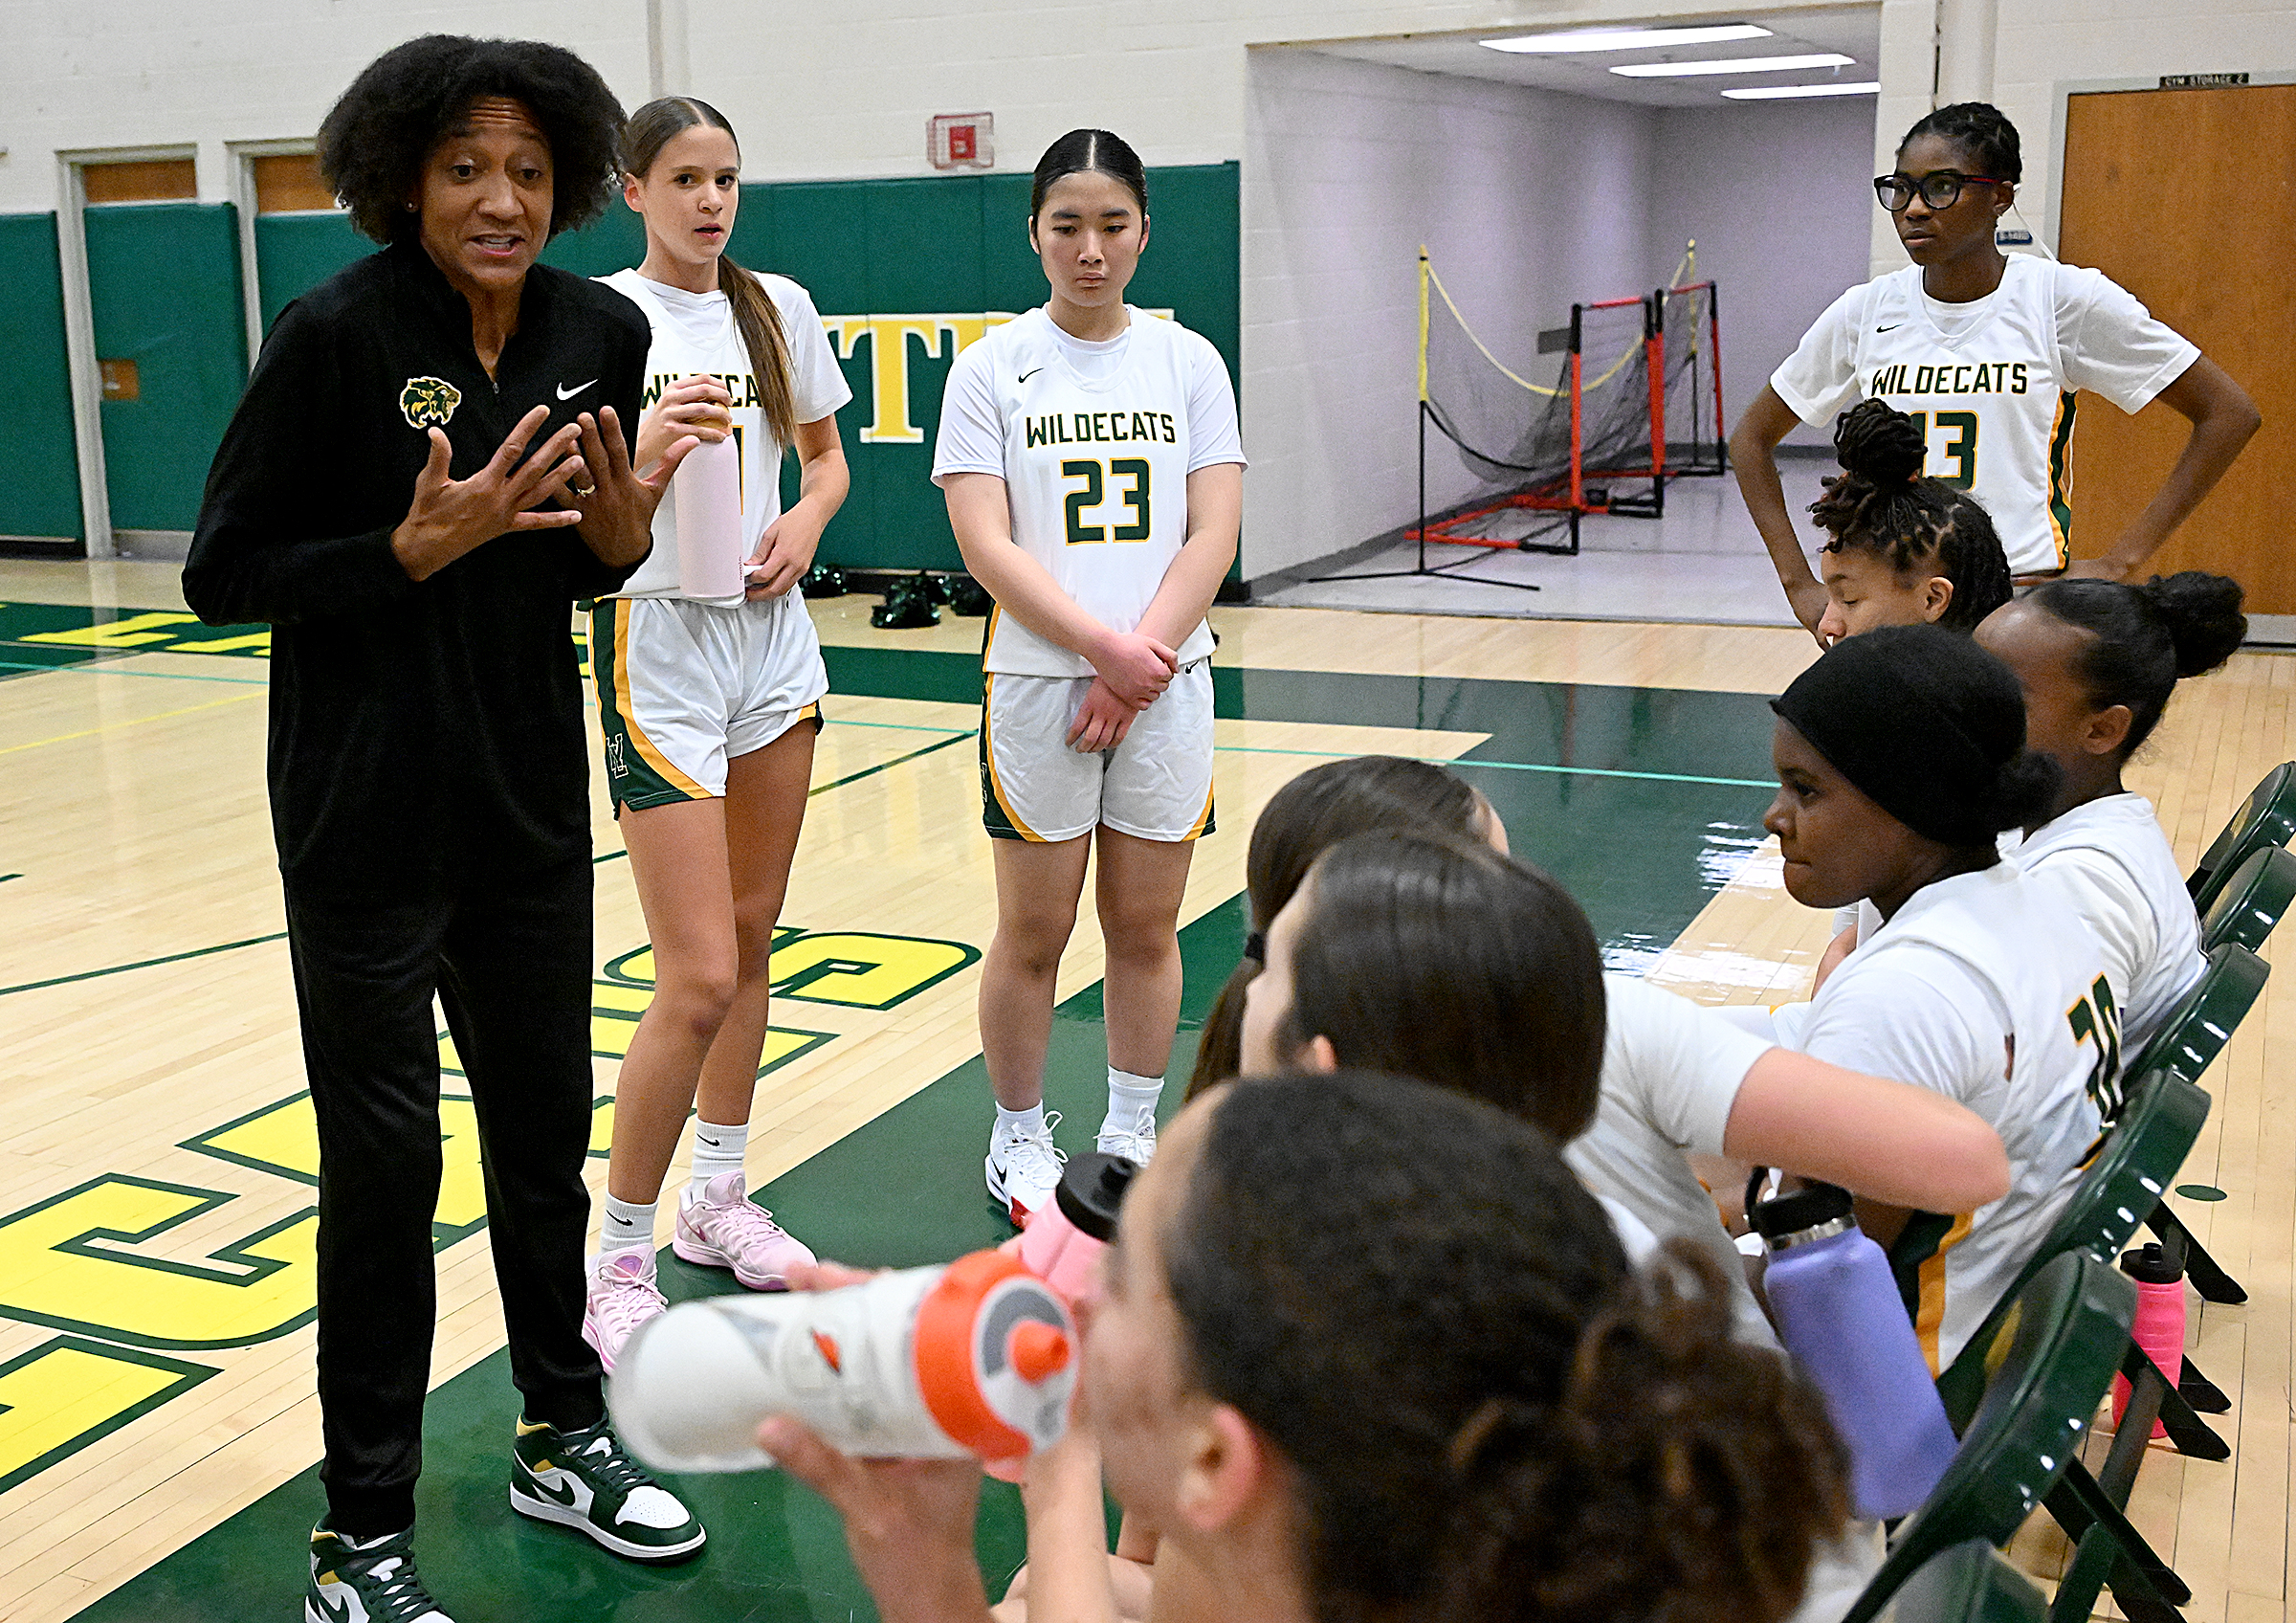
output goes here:
{"type": "MultiPolygon", "coordinates": [[[[994,473],[1013,539],[1084,613],[1139,627],[1187,542],[1187,475],[1244,461],[1235,390],[1210,340],[1146,310],[1107,342],[1084,342],[1042,308],[990,328],[948,370],[932,480],[994,473]]],[[[1212,652],[1203,622],[1176,650],[1212,652]]],[[[1091,661],[1013,615],[990,622],[983,668],[1088,677],[1091,661]]]]}

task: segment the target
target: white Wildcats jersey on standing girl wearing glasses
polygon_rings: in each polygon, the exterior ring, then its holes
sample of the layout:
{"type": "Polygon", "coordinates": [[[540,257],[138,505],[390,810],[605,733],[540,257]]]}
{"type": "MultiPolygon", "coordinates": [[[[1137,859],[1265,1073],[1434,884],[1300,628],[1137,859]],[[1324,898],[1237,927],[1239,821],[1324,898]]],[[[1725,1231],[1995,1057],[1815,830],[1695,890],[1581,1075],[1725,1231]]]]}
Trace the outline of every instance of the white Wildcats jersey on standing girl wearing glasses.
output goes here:
{"type": "Polygon", "coordinates": [[[1949,305],[1906,266],[1853,287],[1770,376],[1802,422],[1887,399],[1929,436],[1929,473],[1991,514],[2009,569],[2071,560],[2073,393],[2138,411],[2200,351],[2099,271],[2009,255],[2000,287],[1949,305]]]}

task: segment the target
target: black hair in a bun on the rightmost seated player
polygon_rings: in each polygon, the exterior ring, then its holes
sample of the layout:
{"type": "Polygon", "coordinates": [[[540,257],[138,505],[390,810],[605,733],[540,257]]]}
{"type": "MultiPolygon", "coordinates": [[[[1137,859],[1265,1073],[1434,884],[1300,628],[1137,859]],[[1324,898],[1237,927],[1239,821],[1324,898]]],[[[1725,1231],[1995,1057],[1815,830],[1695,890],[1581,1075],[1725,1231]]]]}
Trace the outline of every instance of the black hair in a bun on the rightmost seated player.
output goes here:
{"type": "Polygon", "coordinates": [[[2089,634],[2073,673],[2089,709],[2128,707],[2128,760],[2167,712],[2179,677],[2216,670],[2248,638],[2241,583],[2223,574],[2183,569],[2144,585],[2064,578],[2034,588],[2027,599],[2089,634]]]}

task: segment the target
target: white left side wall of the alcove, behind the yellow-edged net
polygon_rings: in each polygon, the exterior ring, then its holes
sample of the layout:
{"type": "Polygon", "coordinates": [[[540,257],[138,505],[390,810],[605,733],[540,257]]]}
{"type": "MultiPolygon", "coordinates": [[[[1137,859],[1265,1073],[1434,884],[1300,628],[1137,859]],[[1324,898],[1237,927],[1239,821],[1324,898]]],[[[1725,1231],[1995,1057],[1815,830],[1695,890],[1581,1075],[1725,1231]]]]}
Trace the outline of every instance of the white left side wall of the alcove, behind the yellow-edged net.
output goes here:
{"type": "MultiPolygon", "coordinates": [[[[1417,514],[1417,257],[1511,363],[1573,298],[1653,280],[1651,110],[1254,51],[1244,147],[1244,576],[1417,514]]],[[[1552,360],[1545,363],[1552,370],[1552,360]]],[[[1433,438],[1428,500],[1472,487],[1433,438]]]]}

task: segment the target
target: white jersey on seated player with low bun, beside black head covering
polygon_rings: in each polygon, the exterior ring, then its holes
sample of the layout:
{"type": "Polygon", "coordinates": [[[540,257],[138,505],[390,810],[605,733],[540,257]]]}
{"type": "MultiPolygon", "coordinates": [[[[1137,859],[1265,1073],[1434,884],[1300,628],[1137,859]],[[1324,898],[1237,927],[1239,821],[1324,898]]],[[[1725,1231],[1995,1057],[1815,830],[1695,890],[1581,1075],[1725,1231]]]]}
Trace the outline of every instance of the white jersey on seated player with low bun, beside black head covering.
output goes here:
{"type": "Polygon", "coordinates": [[[2122,1054],[2133,1058],[2206,966],[2193,893],[2151,801],[2105,794],[2076,806],[2011,856],[2089,925],[2122,1005],[2122,1054]]]}

